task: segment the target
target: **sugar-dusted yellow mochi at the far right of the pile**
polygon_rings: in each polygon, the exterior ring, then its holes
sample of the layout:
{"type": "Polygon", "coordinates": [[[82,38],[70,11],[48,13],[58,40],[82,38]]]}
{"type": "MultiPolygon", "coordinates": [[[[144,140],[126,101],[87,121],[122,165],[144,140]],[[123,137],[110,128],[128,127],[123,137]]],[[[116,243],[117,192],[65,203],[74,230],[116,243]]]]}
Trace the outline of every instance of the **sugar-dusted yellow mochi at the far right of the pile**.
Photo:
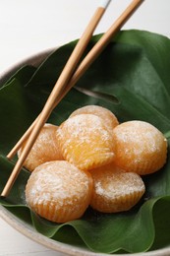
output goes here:
{"type": "Polygon", "coordinates": [[[116,143],[115,162],[127,171],[148,174],[160,169],[166,161],[167,141],[153,125],[129,121],[113,131],[116,143]]]}

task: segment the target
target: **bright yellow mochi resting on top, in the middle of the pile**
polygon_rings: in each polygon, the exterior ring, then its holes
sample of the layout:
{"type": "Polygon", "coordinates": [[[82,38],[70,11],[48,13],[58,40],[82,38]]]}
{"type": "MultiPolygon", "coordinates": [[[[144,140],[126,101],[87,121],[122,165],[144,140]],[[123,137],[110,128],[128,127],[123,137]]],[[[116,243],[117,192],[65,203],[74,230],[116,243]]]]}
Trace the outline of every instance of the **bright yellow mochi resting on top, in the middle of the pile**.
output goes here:
{"type": "Polygon", "coordinates": [[[113,136],[96,115],[70,117],[56,134],[64,159],[81,169],[89,170],[114,160],[113,136]]]}

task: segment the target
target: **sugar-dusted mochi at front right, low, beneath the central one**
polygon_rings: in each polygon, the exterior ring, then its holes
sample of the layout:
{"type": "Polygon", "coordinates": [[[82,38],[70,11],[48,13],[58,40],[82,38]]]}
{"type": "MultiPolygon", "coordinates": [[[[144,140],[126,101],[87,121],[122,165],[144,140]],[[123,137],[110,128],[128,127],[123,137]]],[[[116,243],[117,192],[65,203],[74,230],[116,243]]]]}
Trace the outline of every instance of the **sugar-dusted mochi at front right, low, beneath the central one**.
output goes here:
{"type": "Polygon", "coordinates": [[[140,175],[125,172],[114,164],[91,170],[94,182],[91,207],[102,213],[130,210],[145,191],[140,175]]]}

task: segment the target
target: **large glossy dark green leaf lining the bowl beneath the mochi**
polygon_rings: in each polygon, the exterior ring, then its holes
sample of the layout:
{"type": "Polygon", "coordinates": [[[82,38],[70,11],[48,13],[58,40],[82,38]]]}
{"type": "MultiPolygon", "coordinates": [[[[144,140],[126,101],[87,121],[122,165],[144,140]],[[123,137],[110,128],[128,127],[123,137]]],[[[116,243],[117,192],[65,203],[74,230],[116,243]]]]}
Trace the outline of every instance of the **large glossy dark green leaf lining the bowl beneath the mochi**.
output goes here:
{"type": "MultiPolygon", "coordinates": [[[[93,36],[88,48],[101,35],[93,36]]],[[[0,190],[15,164],[5,158],[40,112],[76,41],[54,51],[38,68],[25,66],[0,90],[0,190]]],[[[170,40],[151,32],[119,32],[83,78],[53,110],[60,124],[85,104],[103,105],[120,120],[155,125],[170,144],[170,40]],[[92,96],[88,96],[92,93],[92,96]]],[[[143,177],[146,192],[127,213],[99,214],[90,208],[81,220],[53,224],[37,217],[25,202],[29,172],[22,169],[0,204],[42,234],[92,251],[141,252],[170,246],[170,154],[157,173],[143,177]]]]}

